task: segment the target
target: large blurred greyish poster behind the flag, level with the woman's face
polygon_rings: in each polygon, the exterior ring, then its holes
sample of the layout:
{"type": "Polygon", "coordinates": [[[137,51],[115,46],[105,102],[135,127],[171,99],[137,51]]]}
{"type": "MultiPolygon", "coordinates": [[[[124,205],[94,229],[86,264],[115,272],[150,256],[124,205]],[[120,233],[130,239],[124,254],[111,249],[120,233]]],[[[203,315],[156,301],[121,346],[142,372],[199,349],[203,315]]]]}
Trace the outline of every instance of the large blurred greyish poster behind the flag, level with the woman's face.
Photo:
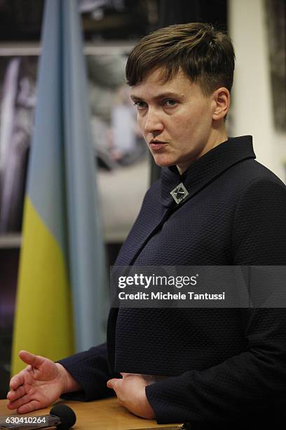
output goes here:
{"type": "MultiPolygon", "coordinates": [[[[20,232],[38,56],[0,56],[0,234],[20,232]]],[[[124,54],[87,55],[90,128],[104,235],[122,242],[149,183],[147,148],[125,84],[124,54]],[[128,190],[128,206],[126,202],[128,190]]]]}

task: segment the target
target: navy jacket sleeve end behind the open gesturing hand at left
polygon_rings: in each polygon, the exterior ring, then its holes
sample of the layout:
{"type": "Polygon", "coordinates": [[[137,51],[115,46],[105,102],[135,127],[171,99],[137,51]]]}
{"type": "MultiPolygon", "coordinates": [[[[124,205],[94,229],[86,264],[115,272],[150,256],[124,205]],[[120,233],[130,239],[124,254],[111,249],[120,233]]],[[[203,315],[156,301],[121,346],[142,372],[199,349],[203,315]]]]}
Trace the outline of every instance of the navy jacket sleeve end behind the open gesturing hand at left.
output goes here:
{"type": "Polygon", "coordinates": [[[62,394],[62,398],[88,401],[114,396],[114,391],[107,388],[107,381],[118,375],[109,372],[107,344],[95,346],[57,363],[63,365],[82,387],[82,391],[62,394]]]}

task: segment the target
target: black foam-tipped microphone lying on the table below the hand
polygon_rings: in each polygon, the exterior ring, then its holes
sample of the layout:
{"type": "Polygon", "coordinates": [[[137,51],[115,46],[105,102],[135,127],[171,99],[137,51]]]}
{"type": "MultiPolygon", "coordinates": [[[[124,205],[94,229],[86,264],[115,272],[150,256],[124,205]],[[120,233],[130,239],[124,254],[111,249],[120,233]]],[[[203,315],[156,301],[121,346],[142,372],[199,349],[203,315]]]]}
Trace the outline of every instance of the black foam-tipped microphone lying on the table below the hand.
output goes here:
{"type": "Polygon", "coordinates": [[[59,430],[68,430],[76,422],[76,414],[67,405],[55,405],[50,410],[50,415],[35,417],[21,417],[11,415],[6,422],[0,422],[0,430],[37,430],[48,427],[56,427],[59,430]]]}

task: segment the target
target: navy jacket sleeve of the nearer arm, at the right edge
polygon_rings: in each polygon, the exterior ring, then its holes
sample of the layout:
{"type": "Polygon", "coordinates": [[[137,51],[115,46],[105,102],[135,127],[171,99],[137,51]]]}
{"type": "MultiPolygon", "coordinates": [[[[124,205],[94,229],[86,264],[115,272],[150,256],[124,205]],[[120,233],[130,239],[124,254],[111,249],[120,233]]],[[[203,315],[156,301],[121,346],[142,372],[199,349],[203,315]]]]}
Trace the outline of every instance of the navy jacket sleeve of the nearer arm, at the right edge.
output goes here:
{"type": "MultiPolygon", "coordinates": [[[[259,179],[244,190],[233,219],[232,249],[236,266],[286,265],[286,188],[278,179],[259,179]]],[[[247,351],[147,386],[158,423],[191,422],[192,429],[222,425],[273,414],[278,402],[281,414],[286,407],[285,306],[241,309],[247,351]]]]}

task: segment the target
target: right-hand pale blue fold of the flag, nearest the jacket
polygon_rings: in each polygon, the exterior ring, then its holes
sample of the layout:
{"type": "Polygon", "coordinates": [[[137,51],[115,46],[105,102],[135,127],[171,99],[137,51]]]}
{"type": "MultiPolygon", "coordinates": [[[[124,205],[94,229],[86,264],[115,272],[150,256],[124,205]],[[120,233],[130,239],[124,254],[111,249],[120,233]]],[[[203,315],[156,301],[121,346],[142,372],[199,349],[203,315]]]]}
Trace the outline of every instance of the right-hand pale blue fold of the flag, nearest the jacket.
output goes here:
{"type": "Polygon", "coordinates": [[[63,52],[69,257],[76,346],[82,351],[106,338],[107,284],[79,13],[74,0],[62,8],[63,37],[69,41],[63,52]]]}

